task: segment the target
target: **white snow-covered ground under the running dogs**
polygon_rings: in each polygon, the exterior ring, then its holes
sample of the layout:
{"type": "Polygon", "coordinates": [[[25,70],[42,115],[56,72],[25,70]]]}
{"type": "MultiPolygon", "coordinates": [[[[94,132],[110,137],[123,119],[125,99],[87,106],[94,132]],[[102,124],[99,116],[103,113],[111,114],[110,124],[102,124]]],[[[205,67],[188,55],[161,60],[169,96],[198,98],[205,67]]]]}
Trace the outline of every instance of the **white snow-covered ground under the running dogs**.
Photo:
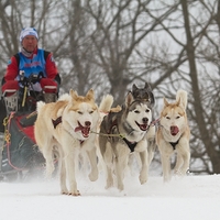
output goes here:
{"type": "Polygon", "coordinates": [[[220,175],[151,176],[140,185],[136,175],[125,189],[105,189],[100,173],[95,183],[77,176],[80,197],[59,194],[58,179],[0,183],[0,220],[217,220],[220,218],[220,175]]]}

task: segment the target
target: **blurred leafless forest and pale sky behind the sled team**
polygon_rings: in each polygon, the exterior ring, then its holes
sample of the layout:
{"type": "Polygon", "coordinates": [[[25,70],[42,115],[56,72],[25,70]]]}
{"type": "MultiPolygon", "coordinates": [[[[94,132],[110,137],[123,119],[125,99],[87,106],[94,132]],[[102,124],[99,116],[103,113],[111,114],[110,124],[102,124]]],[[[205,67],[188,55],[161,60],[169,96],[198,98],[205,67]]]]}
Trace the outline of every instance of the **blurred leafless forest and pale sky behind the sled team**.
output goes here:
{"type": "MultiPolygon", "coordinates": [[[[123,103],[132,85],[151,84],[154,118],[163,97],[188,92],[190,172],[220,174],[220,0],[1,0],[0,77],[33,26],[70,88],[123,103]]],[[[155,169],[161,167],[158,152],[155,169]]]]}

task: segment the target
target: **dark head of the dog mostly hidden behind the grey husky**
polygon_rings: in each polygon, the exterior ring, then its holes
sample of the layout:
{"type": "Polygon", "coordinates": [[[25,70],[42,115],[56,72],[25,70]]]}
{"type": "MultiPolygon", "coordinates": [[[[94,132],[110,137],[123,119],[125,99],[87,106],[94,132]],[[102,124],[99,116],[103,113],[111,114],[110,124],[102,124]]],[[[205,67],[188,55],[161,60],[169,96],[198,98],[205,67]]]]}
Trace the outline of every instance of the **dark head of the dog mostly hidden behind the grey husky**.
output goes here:
{"type": "Polygon", "coordinates": [[[133,84],[131,92],[134,99],[148,101],[152,107],[154,106],[155,99],[148,82],[145,82],[144,88],[139,88],[135,84],[133,84]]]}

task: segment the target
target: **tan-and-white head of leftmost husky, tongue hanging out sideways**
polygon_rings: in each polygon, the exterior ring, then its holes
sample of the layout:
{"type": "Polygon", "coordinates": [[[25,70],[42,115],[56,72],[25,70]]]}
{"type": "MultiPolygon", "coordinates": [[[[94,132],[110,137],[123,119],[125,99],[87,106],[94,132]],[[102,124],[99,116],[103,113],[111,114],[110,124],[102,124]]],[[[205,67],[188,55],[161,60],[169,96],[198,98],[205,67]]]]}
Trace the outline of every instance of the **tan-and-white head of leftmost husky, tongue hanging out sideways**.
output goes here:
{"type": "Polygon", "coordinates": [[[68,105],[63,112],[64,120],[70,125],[70,130],[74,130],[74,135],[77,139],[85,140],[89,138],[90,131],[97,127],[99,120],[92,89],[85,97],[78,96],[74,90],[69,91],[68,105]]]}

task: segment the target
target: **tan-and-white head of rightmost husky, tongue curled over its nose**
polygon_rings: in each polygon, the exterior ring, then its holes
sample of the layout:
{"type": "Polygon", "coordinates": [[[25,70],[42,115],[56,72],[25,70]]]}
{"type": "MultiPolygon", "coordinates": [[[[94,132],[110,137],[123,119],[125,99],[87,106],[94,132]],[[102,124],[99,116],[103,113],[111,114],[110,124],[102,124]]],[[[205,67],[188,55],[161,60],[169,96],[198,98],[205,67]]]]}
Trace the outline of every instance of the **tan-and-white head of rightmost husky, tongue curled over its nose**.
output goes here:
{"type": "Polygon", "coordinates": [[[164,108],[161,112],[161,125],[165,128],[172,136],[179,135],[182,130],[187,125],[186,94],[177,95],[178,99],[175,102],[168,102],[164,98],[164,108]],[[184,96],[184,97],[183,97],[184,96]]]}

